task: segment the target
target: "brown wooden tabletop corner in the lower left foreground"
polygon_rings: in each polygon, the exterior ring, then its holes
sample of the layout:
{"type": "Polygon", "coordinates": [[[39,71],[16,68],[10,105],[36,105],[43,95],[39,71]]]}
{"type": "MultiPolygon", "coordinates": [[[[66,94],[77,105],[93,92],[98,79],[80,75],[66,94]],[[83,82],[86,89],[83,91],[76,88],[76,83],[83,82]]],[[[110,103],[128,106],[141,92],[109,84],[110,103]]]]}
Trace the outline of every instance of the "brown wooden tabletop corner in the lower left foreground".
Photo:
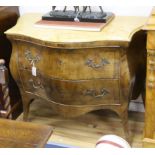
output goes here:
{"type": "Polygon", "coordinates": [[[1,148],[44,147],[51,134],[51,126],[0,119],[1,148]]]}

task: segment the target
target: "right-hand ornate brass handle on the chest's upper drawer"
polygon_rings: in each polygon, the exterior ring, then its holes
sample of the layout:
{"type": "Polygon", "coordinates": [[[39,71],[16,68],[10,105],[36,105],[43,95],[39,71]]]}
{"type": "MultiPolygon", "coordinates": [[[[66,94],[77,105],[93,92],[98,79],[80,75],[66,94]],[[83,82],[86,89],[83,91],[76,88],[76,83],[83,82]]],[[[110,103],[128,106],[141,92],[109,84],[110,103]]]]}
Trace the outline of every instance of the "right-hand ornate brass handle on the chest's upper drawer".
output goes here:
{"type": "Polygon", "coordinates": [[[100,64],[95,64],[95,63],[93,62],[93,60],[88,59],[88,60],[86,61],[85,64],[86,64],[88,67],[97,69],[97,68],[101,68],[101,67],[103,67],[103,66],[105,66],[105,65],[110,64],[110,62],[109,62],[107,59],[103,58],[103,59],[101,59],[100,64]]]}

